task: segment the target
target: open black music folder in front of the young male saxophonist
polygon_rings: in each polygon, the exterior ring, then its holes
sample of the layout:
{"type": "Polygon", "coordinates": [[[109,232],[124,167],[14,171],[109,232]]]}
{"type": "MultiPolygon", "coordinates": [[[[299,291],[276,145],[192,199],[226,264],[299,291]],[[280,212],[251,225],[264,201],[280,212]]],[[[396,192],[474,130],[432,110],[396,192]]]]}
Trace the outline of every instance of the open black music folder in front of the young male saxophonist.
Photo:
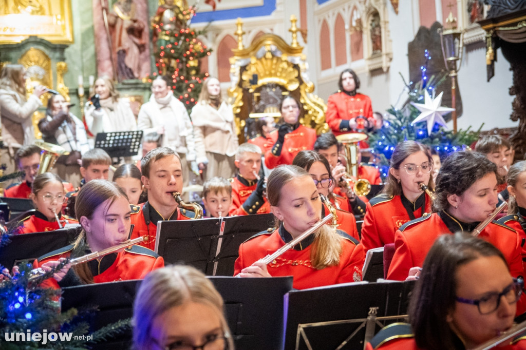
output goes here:
{"type": "Polygon", "coordinates": [[[272,214],[159,221],[155,252],[167,264],[184,262],[209,276],[232,276],[239,245],[273,221],[272,214]]]}

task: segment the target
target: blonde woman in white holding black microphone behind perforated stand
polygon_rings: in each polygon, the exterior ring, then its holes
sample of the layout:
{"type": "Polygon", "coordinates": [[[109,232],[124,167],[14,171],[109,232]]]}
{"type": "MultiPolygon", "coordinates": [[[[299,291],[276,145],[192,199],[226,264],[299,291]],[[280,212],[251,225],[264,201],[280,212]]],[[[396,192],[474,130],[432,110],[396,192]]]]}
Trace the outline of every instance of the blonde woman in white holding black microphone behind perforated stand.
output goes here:
{"type": "Polygon", "coordinates": [[[84,107],[84,116],[93,135],[99,132],[137,130],[137,121],[129,101],[119,98],[112,79],[106,76],[97,78],[89,92],[93,97],[84,107]]]}

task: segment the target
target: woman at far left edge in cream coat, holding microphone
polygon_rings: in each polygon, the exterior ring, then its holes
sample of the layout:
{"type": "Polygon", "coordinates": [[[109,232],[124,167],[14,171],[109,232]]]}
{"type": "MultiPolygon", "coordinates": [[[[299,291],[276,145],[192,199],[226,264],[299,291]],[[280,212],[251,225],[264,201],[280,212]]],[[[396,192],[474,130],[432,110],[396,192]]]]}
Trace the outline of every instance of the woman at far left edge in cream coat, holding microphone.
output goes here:
{"type": "Polygon", "coordinates": [[[16,169],[15,153],[18,148],[31,145],[35,140],[33,113],[42,106],[40,97],[46,92],[42,85],[35,86],[26,98],[26,69],[23,65],[5,65],[0,71],[0,116],[2,140],[8,152],[2,151],[0,163],[6,164],[6,173],[16,169]]]}

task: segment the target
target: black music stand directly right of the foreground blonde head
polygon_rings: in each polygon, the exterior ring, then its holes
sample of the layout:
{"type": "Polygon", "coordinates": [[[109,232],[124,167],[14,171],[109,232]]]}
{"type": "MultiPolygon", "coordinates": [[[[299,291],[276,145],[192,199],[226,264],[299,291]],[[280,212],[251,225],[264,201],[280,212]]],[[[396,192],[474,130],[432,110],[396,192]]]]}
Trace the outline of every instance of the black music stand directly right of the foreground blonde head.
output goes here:
{"type": "Polygon", "coordinates": [[[208,278],[225,301],[227,322],[236,349],[283,348],[283,298],[292,290],[292,276],[208,278]]]}

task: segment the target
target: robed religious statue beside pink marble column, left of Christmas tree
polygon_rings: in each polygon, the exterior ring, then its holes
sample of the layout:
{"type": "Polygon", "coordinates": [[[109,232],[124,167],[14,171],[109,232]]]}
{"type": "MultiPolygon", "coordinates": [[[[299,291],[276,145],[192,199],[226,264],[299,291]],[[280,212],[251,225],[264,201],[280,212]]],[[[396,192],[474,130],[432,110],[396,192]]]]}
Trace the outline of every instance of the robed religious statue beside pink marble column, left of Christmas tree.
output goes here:
{"type": "Polygon", "coordinates": [[[113,28],[112,48],[119,81],[140,78],[139,55],[146,48],[143,39],[146,24],[136,17],[134,1],[118,0],[108,14],[108,25],[113,28]]]}

